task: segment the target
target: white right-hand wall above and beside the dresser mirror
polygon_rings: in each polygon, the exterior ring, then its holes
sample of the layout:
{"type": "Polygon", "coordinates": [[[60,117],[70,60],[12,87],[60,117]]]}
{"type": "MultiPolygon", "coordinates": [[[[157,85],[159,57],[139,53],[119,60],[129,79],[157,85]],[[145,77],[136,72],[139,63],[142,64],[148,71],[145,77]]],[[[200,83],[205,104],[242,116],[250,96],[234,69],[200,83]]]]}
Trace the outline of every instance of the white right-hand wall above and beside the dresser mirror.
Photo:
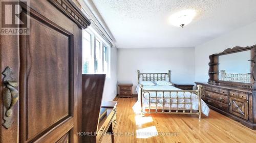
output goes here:
{"type": "Polygon", "coordinates": [[[195,47],[196,81],[208,80],[209,55],[219,53],[235,46],[252,46],[256,44],[256,22],[233,30],[214,40],[195,47]]]}

